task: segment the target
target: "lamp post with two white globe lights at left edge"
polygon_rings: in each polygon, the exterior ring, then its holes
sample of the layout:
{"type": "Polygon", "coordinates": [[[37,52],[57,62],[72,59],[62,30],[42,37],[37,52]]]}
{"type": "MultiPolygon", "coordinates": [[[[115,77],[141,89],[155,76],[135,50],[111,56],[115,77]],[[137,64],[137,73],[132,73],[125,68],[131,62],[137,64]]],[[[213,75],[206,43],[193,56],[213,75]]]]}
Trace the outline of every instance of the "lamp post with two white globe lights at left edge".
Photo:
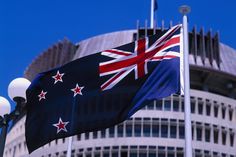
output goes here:
{"type": "Polygon", "coordinates": [[[3,156],[6,142],[8,123],[15,120],[22,112],[26,102],[26,89],[30,81],[25,78],[16,78],[8,86],[9,97],[16,102],[15,109],[10,113],[11,106],[7,99],[0,97],[0,156],[3,156]]]}

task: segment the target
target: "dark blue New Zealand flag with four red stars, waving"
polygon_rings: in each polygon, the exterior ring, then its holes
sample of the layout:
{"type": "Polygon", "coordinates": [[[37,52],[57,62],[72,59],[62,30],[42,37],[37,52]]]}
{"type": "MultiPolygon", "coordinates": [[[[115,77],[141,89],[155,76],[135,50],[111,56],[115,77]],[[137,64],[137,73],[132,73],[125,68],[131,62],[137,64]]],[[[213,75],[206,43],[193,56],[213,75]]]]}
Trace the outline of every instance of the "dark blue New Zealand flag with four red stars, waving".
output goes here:
{"type": "Polygon", "coordinates": [[[154,99],[181,92],[181,25],[38,74],[26,91],[29,152],[114,126],[154,99]]]}

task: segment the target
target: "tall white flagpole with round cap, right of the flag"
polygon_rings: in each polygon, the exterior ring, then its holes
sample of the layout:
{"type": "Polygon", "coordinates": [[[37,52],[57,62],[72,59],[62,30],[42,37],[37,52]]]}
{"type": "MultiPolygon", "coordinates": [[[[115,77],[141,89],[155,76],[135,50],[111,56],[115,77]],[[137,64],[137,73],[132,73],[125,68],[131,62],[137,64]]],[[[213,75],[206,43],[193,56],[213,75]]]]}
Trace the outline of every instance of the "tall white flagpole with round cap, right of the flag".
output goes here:
{"type": "Polygon", "coordinates": [[[183,51],[184,51],[184,119],[185,119],[185,156],[192,157],[192,125],[190,107],[190,81],[189,81],[189,52],[188,52],[188,19],[190,7],[183,5],[179,8],[183,14],[183,51]]]}

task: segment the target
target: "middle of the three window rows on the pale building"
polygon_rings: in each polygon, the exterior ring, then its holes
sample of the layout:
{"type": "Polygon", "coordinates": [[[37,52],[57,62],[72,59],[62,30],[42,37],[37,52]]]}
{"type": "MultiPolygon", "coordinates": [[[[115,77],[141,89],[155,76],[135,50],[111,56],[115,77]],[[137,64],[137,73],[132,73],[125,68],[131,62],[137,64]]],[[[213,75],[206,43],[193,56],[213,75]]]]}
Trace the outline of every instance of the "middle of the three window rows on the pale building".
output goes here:
{"type": "MultiPolygon", "coordinates": [[[[183,120],[165,118],[131,118],[115,127],[77,135],[78,140],[113,137],[161,137],[184,139],[183,120]]],[[[235,131],[216,125],[192,123],[192,139],[234,146],[235,131]]]]}

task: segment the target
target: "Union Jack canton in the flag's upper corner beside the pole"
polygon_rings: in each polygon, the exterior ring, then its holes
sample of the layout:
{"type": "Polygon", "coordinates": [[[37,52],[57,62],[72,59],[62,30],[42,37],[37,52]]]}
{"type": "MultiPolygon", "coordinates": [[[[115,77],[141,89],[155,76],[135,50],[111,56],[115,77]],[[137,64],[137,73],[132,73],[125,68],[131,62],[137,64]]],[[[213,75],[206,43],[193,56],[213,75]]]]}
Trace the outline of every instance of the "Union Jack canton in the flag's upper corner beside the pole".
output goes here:
{"type": "Polygon", "coordinates": [[[126,51],[122,47],[102,51],[101,55],[112,60],[99,64],[100,77],[112,76],[101,85],[101,89],[113,88],[132,71],[135,72],[134,79],[145,76],[150,62],[180,57],[181,27],[181,24],[176,25],[159,38],[154,35],[137,40],[133,51],[126,51]],[[153,43],[150,43],[151,37],[156,37],[153,43]]]}

